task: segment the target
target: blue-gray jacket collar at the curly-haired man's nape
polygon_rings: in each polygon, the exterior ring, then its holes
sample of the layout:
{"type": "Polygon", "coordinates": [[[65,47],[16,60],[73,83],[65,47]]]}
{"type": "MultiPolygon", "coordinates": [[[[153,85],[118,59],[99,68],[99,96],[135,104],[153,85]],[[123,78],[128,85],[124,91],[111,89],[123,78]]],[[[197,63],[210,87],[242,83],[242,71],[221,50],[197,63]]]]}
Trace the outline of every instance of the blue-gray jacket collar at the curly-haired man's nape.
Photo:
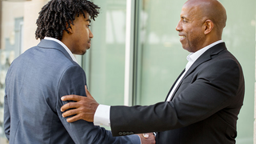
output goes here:
{"type": "Polygon", "coordinates": [[[70,54],[68,54],[65,48],[58,42],[42,39],[41,42],[38,43],[38,47],[59,50],[66,56],[66,58],[69,58],[71,61],[73,61],[73,59],[70,57],[70,54]]]}

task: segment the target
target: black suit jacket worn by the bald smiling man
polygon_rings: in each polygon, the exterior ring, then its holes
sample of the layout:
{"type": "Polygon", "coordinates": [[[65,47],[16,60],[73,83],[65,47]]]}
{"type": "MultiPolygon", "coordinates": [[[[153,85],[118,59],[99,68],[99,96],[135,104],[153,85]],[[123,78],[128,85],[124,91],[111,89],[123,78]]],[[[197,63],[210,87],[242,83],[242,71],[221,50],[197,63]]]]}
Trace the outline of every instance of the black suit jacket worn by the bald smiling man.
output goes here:
{"type": "Polygon", "coordinates": [[[158,131],[158,144],[235,143],[244,90],[242,68],[222,42],[194,62],[170,102],[111,106],[112,134],[158,131]]]}

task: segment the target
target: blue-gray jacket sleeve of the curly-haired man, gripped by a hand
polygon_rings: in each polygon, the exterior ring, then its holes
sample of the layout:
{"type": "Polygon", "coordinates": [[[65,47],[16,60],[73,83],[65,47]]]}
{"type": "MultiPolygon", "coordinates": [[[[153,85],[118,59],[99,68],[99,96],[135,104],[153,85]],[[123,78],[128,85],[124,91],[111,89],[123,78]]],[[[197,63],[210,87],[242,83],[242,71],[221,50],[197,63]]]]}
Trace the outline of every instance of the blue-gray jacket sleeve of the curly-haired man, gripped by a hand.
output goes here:
{"type": "Polygon", "coordinates": [[[61,106],[67,102],[62,102],[61,97],[67,94],[86,95],[86,74],[78,65],[67,68],[59,81],[56,111],[63,126],[70,134],[75,143],[139,143],[140,139],[137,135],[130,137],[114,138],[109,130],[105,130],[99,126],[94,126],[92,122],[79,120],[78,122],[66,122],[66,118],[62,118],[61,106]]]}

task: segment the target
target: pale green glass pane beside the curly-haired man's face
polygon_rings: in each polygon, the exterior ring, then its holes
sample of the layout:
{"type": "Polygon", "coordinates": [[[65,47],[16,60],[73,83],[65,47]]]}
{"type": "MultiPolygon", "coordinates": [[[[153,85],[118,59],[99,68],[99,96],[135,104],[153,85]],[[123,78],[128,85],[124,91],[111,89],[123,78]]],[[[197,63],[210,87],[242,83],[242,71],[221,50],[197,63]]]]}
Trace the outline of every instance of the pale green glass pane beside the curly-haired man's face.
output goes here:
{"type": "Polygon", "coordinates": [[[126,0],[94,0],[100,14],[92,22],[92,45],[84,67],[90,94],[102,104],[124,104],[126,0]]]}

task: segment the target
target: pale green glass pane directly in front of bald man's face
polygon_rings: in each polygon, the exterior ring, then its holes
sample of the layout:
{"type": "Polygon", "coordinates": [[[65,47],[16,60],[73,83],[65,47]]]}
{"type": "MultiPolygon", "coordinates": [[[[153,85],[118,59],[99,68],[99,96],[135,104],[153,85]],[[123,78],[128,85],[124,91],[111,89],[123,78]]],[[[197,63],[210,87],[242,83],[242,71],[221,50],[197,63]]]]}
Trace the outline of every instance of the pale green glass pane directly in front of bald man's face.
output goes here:
{"type": "Polygon", "coordinates": [[[178,24],[185,1],[138,3],[138,66],[136,104],[162,102],[175,79],[186,66],[186,55],[179,42],[178,24]]]}

